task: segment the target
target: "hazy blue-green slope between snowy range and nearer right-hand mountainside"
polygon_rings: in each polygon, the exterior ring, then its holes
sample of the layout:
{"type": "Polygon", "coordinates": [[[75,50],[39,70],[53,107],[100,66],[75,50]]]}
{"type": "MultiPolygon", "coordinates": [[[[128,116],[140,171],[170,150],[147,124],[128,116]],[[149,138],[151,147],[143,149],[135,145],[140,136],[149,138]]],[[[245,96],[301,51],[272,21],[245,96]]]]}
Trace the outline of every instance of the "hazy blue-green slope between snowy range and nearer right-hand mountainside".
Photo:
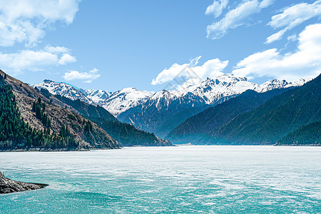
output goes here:
{"type": "Polygon", "coordinates": [[[265,93],[258,93],[253,90],[245,91],[240,96],[231,98],[188,118],[173,131],[170,131],[166,138],[173,143],[201,143],[200,138],[203,134],[227,123],[240,113],[252,111],[272,96],[287,90],[288,88],[280,88],[265,93]]]}

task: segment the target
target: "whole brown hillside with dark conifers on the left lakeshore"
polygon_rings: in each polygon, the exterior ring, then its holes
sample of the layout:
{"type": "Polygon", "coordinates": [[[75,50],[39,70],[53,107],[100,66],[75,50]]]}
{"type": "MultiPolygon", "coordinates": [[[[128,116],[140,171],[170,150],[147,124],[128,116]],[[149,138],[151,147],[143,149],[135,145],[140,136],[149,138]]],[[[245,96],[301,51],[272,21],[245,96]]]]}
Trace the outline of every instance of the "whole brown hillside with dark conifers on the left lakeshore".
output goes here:
{"type": "Polygon", "coordinates": [[[0,70],[0,149],[119,148],[106,131],[0,70]],[[91,128],[87,128],[90,124],[91,128]]]}

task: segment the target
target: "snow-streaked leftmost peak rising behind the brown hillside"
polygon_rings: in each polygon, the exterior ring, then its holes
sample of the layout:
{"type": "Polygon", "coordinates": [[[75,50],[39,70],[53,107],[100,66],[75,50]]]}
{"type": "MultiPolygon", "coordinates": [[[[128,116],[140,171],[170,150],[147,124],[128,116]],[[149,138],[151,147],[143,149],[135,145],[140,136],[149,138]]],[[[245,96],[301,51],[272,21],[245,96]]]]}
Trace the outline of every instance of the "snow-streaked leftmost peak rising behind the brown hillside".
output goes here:
{"type": "Polygon", "coordinates": [[[47,89],[50,93],[54,95],[65,96],[66,98],[70,98],[73,101],[79,99],[86,103],[93,103],[93,101],[91,101],[90,98],[87,98],[83,93],[81,93],[81,91],[79,91],[73,86],[68,85],[67,83],[58,83],[55,81],[45,79],[42,83],[33,85],[33,87],[47,89]]]}

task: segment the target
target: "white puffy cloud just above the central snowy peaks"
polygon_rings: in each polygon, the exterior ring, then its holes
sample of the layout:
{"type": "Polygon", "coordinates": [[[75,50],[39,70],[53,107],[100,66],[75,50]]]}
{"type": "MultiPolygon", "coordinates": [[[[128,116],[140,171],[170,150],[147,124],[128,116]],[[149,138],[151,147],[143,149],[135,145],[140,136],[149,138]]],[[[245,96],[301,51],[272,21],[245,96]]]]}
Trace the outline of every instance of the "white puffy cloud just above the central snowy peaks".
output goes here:
{"type": "Polygon", "coordinates": [[[152,85],[158,85],[175,80],[175,78],[186,79],[185,83],[196,83],[205,78],[213,78],[223,74],[223,69],[228,66],[228,61],[220,61],[219,58],[214,58],[203,63],[202,66],[196,66],[201,56],[193,58],[190,63],[179,65],[174,63],[170,68],[165,68],[151,82],[152,85]],[[186,71],[187,67],[191,67],[192,72],[186,71]]]}

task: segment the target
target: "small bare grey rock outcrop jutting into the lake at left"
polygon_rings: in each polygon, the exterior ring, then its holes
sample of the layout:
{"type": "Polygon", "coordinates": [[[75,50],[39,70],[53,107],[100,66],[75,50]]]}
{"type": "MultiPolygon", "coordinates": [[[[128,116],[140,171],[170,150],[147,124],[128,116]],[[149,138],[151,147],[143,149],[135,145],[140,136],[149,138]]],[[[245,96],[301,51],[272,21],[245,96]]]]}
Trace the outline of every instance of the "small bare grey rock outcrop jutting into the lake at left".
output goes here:
{"type": "Polygon", "coordinates": [[[15,193],[26,190],[39,190],[47,186],[41,183],[24,183],[4,177],[0,172],[0,193],[15,193]]]}

